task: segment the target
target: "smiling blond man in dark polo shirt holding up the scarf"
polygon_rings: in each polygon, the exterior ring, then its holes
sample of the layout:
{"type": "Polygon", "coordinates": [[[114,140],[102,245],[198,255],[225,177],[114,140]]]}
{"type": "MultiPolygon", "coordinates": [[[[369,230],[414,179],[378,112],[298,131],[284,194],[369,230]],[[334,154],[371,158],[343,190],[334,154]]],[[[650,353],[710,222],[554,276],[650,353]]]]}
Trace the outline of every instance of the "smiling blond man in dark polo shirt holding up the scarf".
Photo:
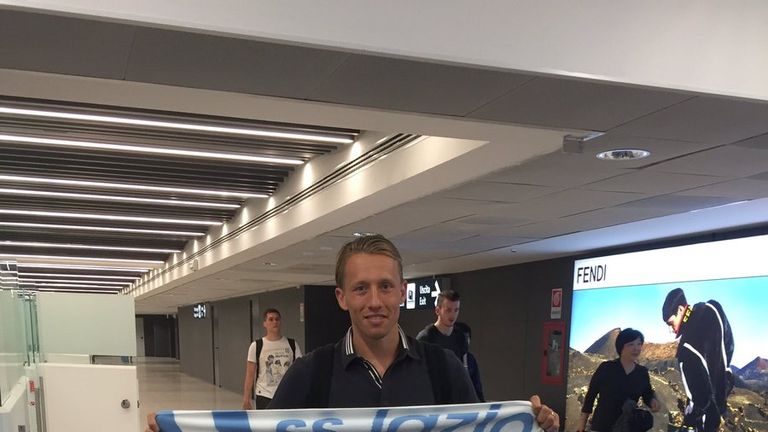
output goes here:
{"type": "MultiPolygon", "coordinates": [[[[268,409],[477,401],[455,356],[409,338],[400,329],[406,282],[400,252],[392,242],[371,235],[344,245],[336,262],[336,285],[336,300],[349,312],[351,328],[337,344],[296,359],[268,409]],[[435,365],[447,373],[430,373],[435,365]],[[431,392],[425,391],[430,387],[431,392]]],[[[531,397],[531,405],[539,426],[557,432],[557,413],[542,405],[538,396],[531,397]]],[[[147,419],[148,430],[157,432],[154,414],[147,419]]]]}

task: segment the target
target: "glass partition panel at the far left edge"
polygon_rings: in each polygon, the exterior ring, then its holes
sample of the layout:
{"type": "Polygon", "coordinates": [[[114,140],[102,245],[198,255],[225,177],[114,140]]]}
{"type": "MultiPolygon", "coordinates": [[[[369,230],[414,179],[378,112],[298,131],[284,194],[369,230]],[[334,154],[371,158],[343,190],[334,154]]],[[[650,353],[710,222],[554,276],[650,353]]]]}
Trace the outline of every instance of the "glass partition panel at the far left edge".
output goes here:
{"type": "Polygon", "coordinates": [[[25,307],[28,304],[19,290],[16,263],[0,261],[0,406],[24,376],[24,365],[29,362],[25,307]]]}

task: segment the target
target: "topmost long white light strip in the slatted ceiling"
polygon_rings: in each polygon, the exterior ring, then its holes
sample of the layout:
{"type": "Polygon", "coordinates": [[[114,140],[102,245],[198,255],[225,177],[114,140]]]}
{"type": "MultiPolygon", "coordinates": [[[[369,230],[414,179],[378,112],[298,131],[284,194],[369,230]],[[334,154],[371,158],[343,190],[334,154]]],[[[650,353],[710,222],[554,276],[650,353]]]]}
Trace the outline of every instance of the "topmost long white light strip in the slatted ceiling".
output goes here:
{"type": "Polygon", "coordinates": [[[133,126],[148,126],[167,129],[192,130],[199,132],[214,132],[232,135],[257,136],[265,138],[295,139],[303,141],[327,142],[336,144],[351,144],[354,140],[346,136],[330,136],[323,134],[312,134],[306,132],[279,132],[268,129],[256,128],[237,128],[225,126],[211,126],[195,123],[182,123],[170,121],[144,120],[128,117],[117,117],[107,115],[77,114],[61,111],[33,110],[23,108],[0,107],[0,114],[24,115],[33,117],[63,118],[69,120],[82,120],[89,122],[128,124],[133,126]]]}

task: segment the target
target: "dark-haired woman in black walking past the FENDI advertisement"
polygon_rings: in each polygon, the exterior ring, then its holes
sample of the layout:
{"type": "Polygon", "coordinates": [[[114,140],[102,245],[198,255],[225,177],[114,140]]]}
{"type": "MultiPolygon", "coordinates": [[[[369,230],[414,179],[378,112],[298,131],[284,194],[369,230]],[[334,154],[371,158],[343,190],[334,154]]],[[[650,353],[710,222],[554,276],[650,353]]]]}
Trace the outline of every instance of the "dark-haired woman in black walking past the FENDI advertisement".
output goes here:
{"type": "Polygon", "coordinates": [[[628,399],[637,403],[642,396],[643,402],[651,411],[656,412],[661,408],[651,387],[648,369],[637,364],[643,342],[643,334],[631,328],[622,330],[616,337],[616,352],[619,353],[619,358],[601,363],[592,374],[589,390],[581,407],[578,432],[586,429],[587,419],[592,413],[598,394],[600,399],[592,415],[590,428],[593,431],[610,432],[628,399]]]}

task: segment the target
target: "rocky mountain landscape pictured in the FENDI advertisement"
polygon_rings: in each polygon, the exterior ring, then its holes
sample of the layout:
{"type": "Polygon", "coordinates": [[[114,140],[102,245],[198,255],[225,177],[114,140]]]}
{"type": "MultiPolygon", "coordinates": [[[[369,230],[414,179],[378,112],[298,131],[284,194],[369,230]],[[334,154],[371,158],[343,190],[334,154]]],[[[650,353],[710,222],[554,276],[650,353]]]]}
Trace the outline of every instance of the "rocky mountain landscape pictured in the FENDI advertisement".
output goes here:
{"type": "MultiPolygon", "coordinates": [[[[615,343],[620,330],[613,328],[607,331],[584,352],[573,348],[569,350],[566,431],[576,430],[581,405],[594,371],[603,361],[618,357],[615,343]]],[[[677,430],[677,425],[682,423],[682,410],[688,398],[676,353],[677,341],[646,342],[638,359],[638,363],[648,368],[651,385],[662,405],[662,409],[653,414],[653,432],[677,430]]],[[[732,370],[737,386],[728,396],[728,409],[720,432],[768,432],[768,360],[758,357],[743,368],[732,367],[732,370]]]]}

